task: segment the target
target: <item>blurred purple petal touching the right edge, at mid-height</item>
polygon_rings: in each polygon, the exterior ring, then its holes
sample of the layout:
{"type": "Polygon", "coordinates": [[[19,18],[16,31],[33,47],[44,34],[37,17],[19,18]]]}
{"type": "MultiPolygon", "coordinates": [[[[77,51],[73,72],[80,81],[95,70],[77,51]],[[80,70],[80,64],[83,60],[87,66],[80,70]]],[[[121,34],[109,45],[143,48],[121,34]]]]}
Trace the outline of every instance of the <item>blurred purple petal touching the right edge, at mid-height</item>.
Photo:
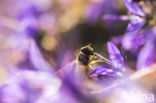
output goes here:
{"type": "Polygon", "coordinates": [[[156,27],[145,30],[143,35],[145,35],[146,42],[138,55],[137,69],[156,63],[156,27]]]}

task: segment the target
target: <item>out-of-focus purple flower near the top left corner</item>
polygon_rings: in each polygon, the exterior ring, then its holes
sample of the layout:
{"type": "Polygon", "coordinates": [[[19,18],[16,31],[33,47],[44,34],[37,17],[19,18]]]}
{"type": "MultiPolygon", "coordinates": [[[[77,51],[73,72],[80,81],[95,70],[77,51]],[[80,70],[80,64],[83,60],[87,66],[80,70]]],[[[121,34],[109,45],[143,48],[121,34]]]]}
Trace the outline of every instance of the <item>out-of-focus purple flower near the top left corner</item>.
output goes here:
{"type": "Polygon", "coordinates": [[[20,2],[16,5],[20,32],[28,37],[36,36],[39,30],[38,21],[44,12],[33,1],[20,2]]]}

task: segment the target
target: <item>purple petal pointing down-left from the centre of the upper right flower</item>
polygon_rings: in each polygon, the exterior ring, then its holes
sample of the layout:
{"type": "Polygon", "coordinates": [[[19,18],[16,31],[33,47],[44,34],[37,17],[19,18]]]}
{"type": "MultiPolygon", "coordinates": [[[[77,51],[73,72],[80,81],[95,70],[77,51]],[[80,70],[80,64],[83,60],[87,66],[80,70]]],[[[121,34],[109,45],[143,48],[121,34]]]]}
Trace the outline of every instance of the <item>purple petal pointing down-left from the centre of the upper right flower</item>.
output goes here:
{"type": "Polygon", "coordinates": [[[134,16],[131,19],[130,23],[128,24],[127,33],[139,31],[144,26],[145,23],[146,23],[145,19],[140,18],[138,16],[134,16]]]}

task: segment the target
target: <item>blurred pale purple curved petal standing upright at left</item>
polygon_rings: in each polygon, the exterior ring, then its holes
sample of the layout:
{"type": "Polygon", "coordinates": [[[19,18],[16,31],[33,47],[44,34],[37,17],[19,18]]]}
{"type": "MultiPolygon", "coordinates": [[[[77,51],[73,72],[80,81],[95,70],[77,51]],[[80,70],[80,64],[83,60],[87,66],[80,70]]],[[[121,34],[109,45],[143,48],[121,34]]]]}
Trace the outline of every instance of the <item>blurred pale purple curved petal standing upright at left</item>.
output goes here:
{"type": "Polygon", "coordinates": [[[29,56],[32,64],[38,70],[52,71],[52,67],[42,57],[35,41],[30,41],[29,56]]]}

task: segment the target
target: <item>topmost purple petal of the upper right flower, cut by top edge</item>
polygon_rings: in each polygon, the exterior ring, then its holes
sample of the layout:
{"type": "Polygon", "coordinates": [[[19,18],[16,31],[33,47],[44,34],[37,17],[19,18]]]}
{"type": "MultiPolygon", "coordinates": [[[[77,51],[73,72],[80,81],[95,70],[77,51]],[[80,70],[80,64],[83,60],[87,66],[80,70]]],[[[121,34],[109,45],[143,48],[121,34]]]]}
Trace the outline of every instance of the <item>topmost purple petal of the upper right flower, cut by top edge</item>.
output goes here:
{"type": "Polygon", "coordinates": [[[139,3],[133,2],[132,0],[124,0],[124,2],[129,12],[135,15],[145,16],[139,3]]]}

